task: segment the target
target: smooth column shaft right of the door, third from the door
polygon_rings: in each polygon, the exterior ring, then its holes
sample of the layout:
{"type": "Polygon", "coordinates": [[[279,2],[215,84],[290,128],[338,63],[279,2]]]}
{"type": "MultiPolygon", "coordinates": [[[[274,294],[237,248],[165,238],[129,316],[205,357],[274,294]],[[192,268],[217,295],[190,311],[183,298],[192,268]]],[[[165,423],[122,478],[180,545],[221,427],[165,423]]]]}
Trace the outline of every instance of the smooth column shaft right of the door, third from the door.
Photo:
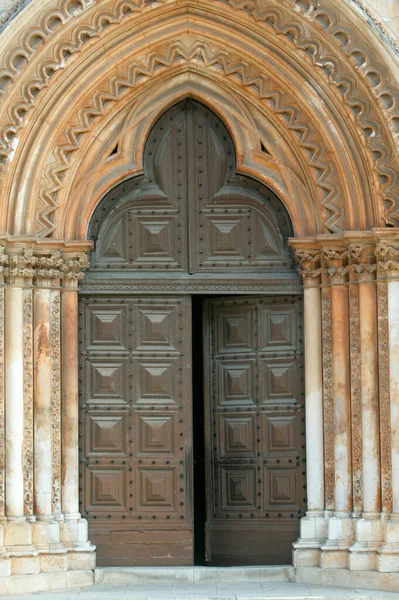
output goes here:
{"type": "Polygon", "coordinates": [[[377,294],[374,281],[359,281],[362,397],[363,510],[378,513],[380,458],[378,417],[377,294]]]}

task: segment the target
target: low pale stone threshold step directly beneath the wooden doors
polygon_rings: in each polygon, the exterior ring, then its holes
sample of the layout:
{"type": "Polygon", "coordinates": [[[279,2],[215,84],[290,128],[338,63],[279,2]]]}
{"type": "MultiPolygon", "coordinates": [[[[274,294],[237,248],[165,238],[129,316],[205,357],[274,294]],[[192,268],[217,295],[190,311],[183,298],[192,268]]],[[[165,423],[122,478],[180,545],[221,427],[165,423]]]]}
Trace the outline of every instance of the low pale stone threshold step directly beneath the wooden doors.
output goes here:
{"type": "Polygon", "coordinates": [[[236,583],[292,581],[292,565],[248,567],[97,567],[95,583],[236,583]]]}

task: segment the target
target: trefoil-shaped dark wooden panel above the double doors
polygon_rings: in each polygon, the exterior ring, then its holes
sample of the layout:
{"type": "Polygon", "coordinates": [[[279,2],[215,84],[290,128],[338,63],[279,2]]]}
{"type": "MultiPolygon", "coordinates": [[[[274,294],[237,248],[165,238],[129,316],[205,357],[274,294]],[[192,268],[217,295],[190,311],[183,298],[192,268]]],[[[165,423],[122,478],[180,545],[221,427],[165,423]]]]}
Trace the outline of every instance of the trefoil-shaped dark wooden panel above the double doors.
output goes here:
{"type": "Polygon", "coordinates": [[[149,135],[144,174],[117,186],[95,211],[93,267],[135,279],[154,271],[194,279],[292,272],[287,211],[235,168],[231,136],[214,113],[194,100],[169,109],[149,135]]]}

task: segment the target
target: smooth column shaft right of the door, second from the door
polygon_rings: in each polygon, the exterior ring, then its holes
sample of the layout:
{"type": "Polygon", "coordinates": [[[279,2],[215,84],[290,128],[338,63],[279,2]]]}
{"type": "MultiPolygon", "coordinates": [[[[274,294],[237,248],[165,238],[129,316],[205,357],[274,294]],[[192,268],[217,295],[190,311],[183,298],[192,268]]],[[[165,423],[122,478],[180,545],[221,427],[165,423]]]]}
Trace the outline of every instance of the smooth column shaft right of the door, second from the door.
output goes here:
{"type": "Polygon", "coordinates": [[[331,285],[335,510],[352,509],[348,288],[331,285]]]}

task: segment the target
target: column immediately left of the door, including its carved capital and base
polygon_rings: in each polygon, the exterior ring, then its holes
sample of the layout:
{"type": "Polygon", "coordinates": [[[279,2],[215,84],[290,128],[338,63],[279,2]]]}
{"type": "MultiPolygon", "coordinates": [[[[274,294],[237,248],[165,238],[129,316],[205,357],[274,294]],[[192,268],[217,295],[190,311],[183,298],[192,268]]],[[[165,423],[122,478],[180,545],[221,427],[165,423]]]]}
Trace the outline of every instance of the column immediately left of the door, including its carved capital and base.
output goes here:
{"type": "Polygon", "coordinates": [[[88,267],[86,254],[63,254],[61,293],[62,340],[62,541],[73,556],[93,568],[88,524],[79,513],[78,282],[88,267]],[[81,551],[86,555],[78,555],[81,551]]]}

